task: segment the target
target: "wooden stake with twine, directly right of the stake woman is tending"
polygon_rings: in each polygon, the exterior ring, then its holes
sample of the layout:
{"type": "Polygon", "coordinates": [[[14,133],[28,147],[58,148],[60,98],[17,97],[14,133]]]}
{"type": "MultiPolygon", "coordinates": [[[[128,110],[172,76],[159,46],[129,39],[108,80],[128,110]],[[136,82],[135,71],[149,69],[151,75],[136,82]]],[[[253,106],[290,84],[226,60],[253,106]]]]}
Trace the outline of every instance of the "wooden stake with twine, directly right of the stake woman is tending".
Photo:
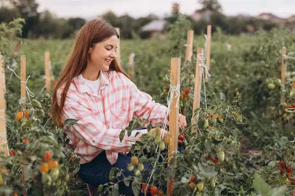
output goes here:
{"type": "MultiPolygon", "coordinates": [[[[197,56],[200,56],[201,54],[204,54],[204,49],[198,48],[197,49],[197,56]]],[[[200,108],[200,102],[201,102],[201,86],[202,86],[202,71],[203,67],[201,68],[199,65],[201,64],[201,59],[197,59],[196,63],[196,75],[195,75],[195,90],[194,90],[194,101],[193,101],[193,116],[195,114],[195,110],[197,108],[200,108]]],[[[195,118],[192,119],[192,124],[195,124],[198,121],[195,120],[195,118]]],[[[195,133],[194,126],[192,126],[191,133],[195,133]]]]}

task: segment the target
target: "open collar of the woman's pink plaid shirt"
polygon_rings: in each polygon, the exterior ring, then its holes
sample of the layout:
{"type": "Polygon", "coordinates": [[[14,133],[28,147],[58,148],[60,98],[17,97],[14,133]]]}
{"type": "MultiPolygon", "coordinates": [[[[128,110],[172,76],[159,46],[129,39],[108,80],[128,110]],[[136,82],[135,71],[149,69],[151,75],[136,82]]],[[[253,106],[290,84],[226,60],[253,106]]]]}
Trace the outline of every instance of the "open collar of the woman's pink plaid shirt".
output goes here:
{"type": "MultiPolygon", "coordinates": [[[[104,89],[105,86],[110,84],[110,78],[107,74],[107,71],[99,71],[98,81],[100,82],[101,89],[104,89]]],[[[74,82],[77,86],[79,94],[87,93],[91,91],[88,85],[86,84],[86,82],[84,81],[82,73],[74,77],[74,82]]]]}

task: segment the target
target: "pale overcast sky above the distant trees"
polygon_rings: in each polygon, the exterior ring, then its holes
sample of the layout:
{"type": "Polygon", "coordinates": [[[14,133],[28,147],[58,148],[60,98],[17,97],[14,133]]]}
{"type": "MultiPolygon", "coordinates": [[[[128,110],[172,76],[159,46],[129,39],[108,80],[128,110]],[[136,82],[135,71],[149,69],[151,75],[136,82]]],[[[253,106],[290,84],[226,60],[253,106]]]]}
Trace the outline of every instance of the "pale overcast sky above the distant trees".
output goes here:
{"type": "MultiPolygon", "coordinates": [[[[36,0],[39,11],[45,9],[59,17],[95,18],[107,10],[113,10],[117,16],[128,13],[138,18],[154,13],[164,16],[171,12],[174,2],[180,4],[182,14],[192,14],[200,8],[198,0],[36,0]]],[[[257,16],[270,12],[282,18],[295,15],[295,0],[219,0],[223,13],[228,16],[250,14],[257,16]]]]}

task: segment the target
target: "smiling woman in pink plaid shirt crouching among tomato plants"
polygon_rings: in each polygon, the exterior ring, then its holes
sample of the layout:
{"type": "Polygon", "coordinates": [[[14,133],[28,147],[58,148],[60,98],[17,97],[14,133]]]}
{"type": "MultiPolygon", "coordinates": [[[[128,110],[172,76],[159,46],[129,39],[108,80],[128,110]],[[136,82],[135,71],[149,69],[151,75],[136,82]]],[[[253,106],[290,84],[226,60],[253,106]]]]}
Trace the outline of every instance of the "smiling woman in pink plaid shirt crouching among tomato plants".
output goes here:
{"type": "MultiPolygon", "coordinates": [[[[111,168],[128,172],[132,145],[147,129],[135,130],[120,142],[119,134],[133,116],[146,123],[163,124],[167,107],[155,103],[138,90],[118,66],[116,49],[119,35],[103,20],[85,24],[75,37],[74,47],[60,73],[53,92],[52,118],[57,125],[66,119],[79,121],[65,130],[75,153],[80,157],[79,177],[97,187],[109,182],[111,168]],[[136,132],[140,132],[135,136],[136,132]]],[[[186,126],[185,117],[179,121],[186,126]]],[[[151,129],[153,131],[153,129],[151,129]]],[[[164,138],[168,132],[164,131],[164,138]]],[[[146,165],[145,167],[148,167],[146,165]]],[[[132,195],[130,187],[120,185],[120,194],[132,195]]]]}

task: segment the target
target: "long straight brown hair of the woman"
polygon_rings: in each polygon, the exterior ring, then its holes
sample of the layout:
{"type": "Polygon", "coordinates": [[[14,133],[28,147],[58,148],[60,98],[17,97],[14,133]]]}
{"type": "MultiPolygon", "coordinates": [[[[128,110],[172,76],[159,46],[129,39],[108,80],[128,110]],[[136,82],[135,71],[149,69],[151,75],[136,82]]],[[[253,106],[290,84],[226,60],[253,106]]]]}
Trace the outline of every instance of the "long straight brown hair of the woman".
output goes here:
{"type": "MultiPolygon", "coordinates": [[[[53,90],[52,120],[56,125],[59,126],[62,124],[62,108],[73,78],[86,70],[89,49],[94,47],[95,44],[103,42],[113,35],[116,35],[119,38],[116,29],[110,23],[105,20],[94,19],[82,26],[75,36],[74,47],[66,60],[66,63],[60,73],[59,81],[55,84],[53,90]],[[63,88],[59,104],[57,94],[60,87],[63,88]]],[[[128,75],[118,66],[116,59],[111,62],[110,70],[123,73],[128,77],[128,75]]]]}

